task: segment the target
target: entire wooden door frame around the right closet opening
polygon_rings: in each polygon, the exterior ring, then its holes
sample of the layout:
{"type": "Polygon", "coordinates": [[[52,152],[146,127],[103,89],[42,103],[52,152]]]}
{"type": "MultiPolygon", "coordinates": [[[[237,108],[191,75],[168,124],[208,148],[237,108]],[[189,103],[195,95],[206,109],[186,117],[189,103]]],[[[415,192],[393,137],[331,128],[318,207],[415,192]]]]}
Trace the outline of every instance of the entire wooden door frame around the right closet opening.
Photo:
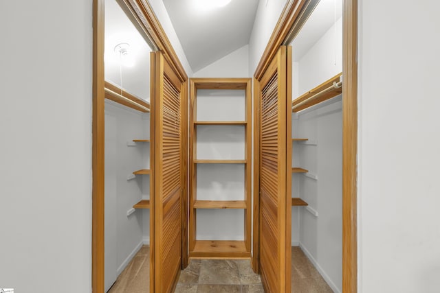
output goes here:
{"type": "MultiPolygon", "coordinates": [[[[254,73],[254,101],[259,80],[311,0],[288,0],[254,73]]],[[[358,290],[358,0],[344,0],[342,12],[342,292],[358,290]]],[[[258,105],[254,103],[254,129],[258,105]]],[[[254,134],[256,132],[254,131],[254,134]]],[[[258,143],[254,137],[254,143],[258,143]]],[[[256,144],[254,144],[256,145],[256,144]]],[[[254,158],[259,154],[255,154],[254,158]]],[[[254,159],[254,244],[252,266],[259,272],[259,162],[254,159]]]]}

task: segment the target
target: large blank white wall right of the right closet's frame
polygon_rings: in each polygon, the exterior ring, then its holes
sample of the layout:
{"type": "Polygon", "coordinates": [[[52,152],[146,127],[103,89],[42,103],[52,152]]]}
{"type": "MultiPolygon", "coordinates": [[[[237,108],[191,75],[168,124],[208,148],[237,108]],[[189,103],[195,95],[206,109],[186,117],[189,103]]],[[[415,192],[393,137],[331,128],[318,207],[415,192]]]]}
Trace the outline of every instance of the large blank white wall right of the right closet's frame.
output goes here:
{"type": "Polygon", "coordinates": [[[439,292],[439,11],[360,1],[359,292],[439,292]]]}

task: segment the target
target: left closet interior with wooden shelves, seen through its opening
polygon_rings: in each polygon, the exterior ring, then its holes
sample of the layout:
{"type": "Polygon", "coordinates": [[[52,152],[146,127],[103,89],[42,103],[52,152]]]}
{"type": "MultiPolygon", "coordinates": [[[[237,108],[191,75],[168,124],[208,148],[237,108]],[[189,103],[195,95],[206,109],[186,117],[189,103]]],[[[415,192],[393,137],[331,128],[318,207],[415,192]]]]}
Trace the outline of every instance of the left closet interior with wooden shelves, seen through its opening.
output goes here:
{"type": "Polygon", "coordinates": [[[105,1],[105,292],[149,292],[151,47],[105,1]]]}

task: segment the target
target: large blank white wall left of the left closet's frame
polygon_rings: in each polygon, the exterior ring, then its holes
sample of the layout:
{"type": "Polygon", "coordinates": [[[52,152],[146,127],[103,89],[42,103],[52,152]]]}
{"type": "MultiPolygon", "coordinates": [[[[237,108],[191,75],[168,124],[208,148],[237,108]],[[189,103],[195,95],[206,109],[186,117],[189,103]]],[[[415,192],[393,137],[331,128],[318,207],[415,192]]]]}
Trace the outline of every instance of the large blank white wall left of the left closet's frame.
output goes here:
{"type": "Polygon", "coordinates": [[[86,0],[0,2],[2,288],[91,291],[91,19],[86,0]]]}

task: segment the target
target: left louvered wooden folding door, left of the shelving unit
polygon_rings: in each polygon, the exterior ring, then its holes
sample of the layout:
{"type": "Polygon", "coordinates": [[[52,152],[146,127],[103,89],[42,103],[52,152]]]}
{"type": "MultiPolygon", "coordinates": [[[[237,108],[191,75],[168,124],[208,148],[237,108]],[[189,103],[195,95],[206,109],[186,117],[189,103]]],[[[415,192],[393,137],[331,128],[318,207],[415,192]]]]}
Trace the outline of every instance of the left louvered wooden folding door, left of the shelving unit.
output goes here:
{"type": "MultiPolygon", "coordinates": [[[[160,52],[155,53],[155,98],[151,128],[154,134],[154,246],[151,292],[173,292],[182,262],[182,196],[186,119],[184,83],[160,52]]],[[[153,105],[154,104],[154,105],[153,105]]]]}

